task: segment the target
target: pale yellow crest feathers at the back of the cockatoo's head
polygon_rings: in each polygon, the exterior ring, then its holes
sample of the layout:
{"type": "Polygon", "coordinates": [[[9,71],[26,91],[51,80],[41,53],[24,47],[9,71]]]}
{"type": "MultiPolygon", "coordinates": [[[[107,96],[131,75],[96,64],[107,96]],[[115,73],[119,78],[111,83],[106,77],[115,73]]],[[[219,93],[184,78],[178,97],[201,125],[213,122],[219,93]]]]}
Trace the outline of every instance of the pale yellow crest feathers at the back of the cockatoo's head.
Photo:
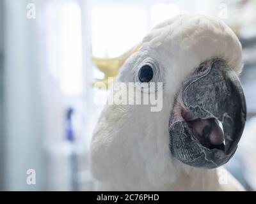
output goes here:
{"type": "Polygon", "coordinates": [[[92,61],[95,63],[95,66],[104,73],[104,79],[97,80],[95,82],[92,82],[93,87],[102,87],[102,83],[108,87],[111,85],[108,83],[108,78],[113,77],[114,79],[118,76],[118,73],[120,71],[120,68],[124,64],[124,62],[134,53],[140,50],[141,44],[136,45],[135,47],[131,48],[124,54],[120,55],[119,57],[114,58],[99,58],[99,57],[93,57],[92,61]]]}

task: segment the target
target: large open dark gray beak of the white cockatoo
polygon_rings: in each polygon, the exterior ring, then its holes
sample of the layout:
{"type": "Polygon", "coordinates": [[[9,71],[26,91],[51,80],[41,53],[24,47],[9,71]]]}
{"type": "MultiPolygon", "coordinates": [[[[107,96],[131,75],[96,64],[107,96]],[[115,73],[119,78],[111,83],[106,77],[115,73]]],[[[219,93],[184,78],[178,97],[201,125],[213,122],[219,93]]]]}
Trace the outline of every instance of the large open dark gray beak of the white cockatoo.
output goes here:
{"type": "Polygon", "coordinates": [[[220,59],[204,62],[180,91],[186,120],[170,120],[172,155],[190,166],[216,168],[236,152],[246,101],[236,73],[220,59]],[[220,123],[222,127],[220,128],[220,123]]]}

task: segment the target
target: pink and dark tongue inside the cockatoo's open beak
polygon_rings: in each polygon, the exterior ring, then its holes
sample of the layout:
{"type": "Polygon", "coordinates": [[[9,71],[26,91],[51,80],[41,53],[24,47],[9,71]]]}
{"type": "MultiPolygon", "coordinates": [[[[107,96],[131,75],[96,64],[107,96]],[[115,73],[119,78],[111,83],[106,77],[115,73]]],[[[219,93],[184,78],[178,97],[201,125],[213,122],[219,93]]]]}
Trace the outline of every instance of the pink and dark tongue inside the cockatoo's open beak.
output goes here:
{"type": "Polygon", "coordinates": [[[212,145],[221,145],[224,142],[224,134],[216,120],[197,119],[188,122],[189,127],[198,140],[208,140],[212,145]]]}

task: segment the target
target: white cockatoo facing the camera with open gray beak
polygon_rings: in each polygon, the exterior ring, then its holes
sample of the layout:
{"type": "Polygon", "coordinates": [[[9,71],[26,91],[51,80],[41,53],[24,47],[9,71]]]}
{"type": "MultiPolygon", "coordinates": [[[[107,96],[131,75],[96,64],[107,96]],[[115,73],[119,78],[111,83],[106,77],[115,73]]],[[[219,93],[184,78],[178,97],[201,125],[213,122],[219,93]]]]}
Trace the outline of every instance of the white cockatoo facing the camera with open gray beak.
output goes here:
{"type": "Polygon", "coordinates": [[[154,27],[116,82],[163,83],[143,92],[161,92],[163,106],[104,107],[90,156],[98,189],[243,190],[220,167],[236,152],[246,120],[241,59],[237,36],[217,18],[178,15],[154,27]]]}

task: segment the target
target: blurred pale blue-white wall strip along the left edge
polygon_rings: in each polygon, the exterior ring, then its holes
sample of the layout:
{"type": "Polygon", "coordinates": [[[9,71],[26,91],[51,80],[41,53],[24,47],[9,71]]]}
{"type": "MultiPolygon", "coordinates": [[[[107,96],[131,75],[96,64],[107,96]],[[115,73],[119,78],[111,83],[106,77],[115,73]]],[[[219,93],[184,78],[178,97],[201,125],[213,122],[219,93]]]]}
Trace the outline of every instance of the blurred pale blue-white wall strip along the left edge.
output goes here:
{"type": "Polygon", "coordinates": [[[40,62],[36,54],[35,20],[26,17],[33,1],[4,1],[4,186],[5,190],[44,189],[40,62]],[[26,183],[26,171],[36,170],[36,185],[26,183]]]}

